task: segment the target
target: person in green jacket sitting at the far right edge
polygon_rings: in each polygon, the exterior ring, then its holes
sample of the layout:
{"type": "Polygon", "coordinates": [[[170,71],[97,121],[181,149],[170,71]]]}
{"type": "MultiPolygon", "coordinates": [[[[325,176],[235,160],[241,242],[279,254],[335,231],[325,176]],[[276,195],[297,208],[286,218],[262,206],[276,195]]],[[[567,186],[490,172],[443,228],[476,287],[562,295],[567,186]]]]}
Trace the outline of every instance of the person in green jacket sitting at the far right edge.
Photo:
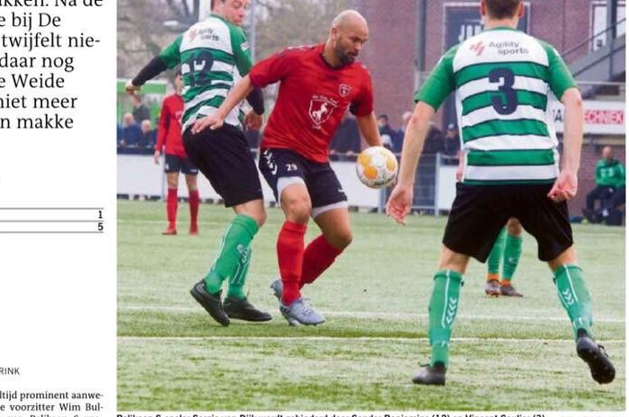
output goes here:
{"type": "Polygon", "coordinates": [[[601,152],[602,158],[597,162],[596,184],[586,198],[586,208],[583,214],[589,222],[601,222],[611,209],[625,204],[625,167],[614,159],[611,146],[606,146],[601,152]],[[596,210],[597,200],[600,208],[596,210]]]}

